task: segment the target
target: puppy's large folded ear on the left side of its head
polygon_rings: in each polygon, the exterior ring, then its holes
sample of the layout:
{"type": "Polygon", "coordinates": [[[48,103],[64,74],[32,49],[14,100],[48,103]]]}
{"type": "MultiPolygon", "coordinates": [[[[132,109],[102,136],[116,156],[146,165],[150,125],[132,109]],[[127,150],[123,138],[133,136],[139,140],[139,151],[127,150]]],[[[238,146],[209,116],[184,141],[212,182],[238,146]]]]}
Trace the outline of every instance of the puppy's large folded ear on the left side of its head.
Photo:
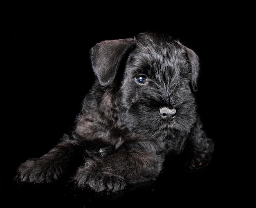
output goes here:
{"type": "Polygon", "coordinates": [[[115,78],[122,58],[134,39],[104,40],[90,50],[92,69],[100,85],[107,86],[115,78]]]}

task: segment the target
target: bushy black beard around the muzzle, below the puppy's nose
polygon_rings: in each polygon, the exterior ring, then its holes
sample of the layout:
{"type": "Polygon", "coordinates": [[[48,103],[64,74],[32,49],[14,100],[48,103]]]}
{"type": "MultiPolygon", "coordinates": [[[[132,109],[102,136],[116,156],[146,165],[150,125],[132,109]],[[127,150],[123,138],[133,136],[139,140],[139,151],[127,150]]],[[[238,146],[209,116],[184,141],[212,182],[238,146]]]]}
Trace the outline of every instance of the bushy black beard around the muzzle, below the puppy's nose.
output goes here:
{"type": "Polygon", "coordinates": [[[195,123],[195,109],[180,107],[173,119],[163,119],[158,108],[132,105],[122,116],[130,131],[157,140],[187,135],[195,123]]]}

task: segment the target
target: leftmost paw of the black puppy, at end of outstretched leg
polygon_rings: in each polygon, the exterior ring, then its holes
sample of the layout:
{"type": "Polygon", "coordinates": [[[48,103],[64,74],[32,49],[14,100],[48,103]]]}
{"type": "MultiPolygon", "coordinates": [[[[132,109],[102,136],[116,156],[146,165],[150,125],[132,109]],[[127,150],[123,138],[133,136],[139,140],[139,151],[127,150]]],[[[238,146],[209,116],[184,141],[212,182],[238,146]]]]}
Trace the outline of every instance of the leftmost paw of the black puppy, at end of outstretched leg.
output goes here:
{"type": "Polygon", "coordinates": [[[29,183],[52,183],[61,174],[60,167],[44,159],[29,159],[22,163],[14,181],[29,183]]]}

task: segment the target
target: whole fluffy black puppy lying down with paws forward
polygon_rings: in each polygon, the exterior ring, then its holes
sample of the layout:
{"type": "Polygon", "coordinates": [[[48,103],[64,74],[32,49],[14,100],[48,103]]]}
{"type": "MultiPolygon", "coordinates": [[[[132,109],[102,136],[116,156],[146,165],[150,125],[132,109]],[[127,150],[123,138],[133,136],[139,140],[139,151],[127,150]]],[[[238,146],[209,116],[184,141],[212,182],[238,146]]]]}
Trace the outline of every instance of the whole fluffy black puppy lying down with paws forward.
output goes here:
{"type": "Polygon", "coordinates": [[[76,170],[79,187],[117,191],[156,179],[167,157],[182,154],[191,169],[211,161],[213,141],[193,96],[199,62],[191,49],[144,33],[99,42],[90,58],[97,79],[74,128],[47,154],[22,163],[16,180],[52,183],[76,170]]]}

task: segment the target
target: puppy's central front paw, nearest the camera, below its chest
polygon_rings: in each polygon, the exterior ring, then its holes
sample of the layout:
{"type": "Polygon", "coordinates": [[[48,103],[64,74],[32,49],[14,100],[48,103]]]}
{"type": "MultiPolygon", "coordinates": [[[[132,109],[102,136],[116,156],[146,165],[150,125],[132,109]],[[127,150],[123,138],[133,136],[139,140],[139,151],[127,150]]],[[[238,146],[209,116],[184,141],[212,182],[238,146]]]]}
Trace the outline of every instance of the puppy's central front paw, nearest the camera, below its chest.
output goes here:
{"type": "Polygon", "coordinates": [[[98,167],[94,161],[87,161],[79,168],[74,179],[81,188],[90,187],[96,192],[123,190],[126,186],[124,177],[110,167],[98,167]]]}

